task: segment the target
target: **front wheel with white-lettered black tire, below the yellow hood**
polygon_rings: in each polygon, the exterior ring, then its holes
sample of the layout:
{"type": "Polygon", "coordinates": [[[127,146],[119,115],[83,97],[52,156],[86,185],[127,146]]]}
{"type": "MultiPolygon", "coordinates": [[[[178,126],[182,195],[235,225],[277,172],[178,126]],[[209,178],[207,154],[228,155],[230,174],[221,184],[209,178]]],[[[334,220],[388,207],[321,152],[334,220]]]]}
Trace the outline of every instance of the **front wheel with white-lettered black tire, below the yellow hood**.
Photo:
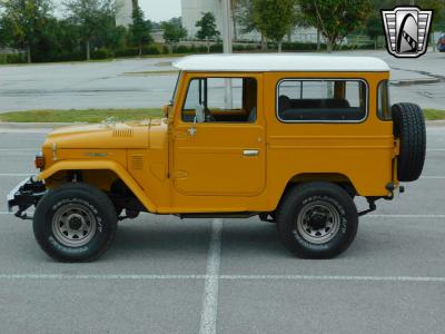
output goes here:
{"type": "Polygon", "coordinates": [[[117,229],[115,206],[101,190],[81,183],[50,190],[39,202],[33,232],[40,247],[62,262],[98,258],[117,229]]]}

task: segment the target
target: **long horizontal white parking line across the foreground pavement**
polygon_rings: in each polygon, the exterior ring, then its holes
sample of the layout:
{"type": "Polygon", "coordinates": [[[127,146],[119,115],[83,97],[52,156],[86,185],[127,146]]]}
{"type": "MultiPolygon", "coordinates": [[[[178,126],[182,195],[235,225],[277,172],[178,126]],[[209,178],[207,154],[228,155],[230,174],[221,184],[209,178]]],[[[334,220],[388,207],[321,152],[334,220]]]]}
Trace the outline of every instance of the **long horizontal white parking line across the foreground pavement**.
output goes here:
{"type": "MultiPolygon", "coordinates": [[[[337,282],[408,282],[408,283],[445,283],[441,276],[358,276],[358,275],[137,275],[137,274],[0,274],[0,281],[36,279],[36,281],[337,281],[337,282]]],[[[215,312],[217,311],[215,304],[215,312]]],[[[214,314],[211,314],[214,315],[214,314]]],[[[215,314],[216,315],[216,314],[215,314]]],[[[216,318],[210,318],[211,333],[216,327],[216,318]]],[[[210,324],[206,323],[206,324],[210,324]]],[[[202,321],[201,321],[202,325],[202,321]]],[[[202,326],[201,326],[202,331],[202,326]]],[[[215,332],[212,332],[215,333],[215,332]]]]}

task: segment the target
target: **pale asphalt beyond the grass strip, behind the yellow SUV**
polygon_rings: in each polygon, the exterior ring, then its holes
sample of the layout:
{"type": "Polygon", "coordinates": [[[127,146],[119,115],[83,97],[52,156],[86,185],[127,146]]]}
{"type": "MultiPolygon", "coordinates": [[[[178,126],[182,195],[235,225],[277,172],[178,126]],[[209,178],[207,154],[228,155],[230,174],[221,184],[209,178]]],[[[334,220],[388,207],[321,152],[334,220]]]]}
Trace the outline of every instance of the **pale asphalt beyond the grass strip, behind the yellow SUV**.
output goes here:
{"type": "MultiPolygon", "coordinates": [[[[373,56],[392,67],[393,102],[444,109],[445,53],[398,59],[386,50],[342,51],[373,56]]],[[[29,109],[159,108],[171,99],[178,58],[0,66],[0,112],[29,109]]]]}

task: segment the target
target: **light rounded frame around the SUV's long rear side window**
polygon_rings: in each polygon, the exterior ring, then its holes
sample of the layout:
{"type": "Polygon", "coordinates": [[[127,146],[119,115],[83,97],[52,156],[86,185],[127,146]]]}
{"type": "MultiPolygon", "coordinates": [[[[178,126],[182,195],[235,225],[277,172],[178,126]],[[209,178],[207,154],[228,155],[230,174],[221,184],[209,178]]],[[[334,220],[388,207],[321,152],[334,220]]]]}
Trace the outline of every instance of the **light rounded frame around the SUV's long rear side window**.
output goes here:
{"type": "Polygon", "coordinates": [[[323,78],[283,78],[278,80],[276,87],[275,87],[275,116],[276,118],[284,124],[362,124],[368,119],[369,116],[369,84],[366,79],[364,78],[329,78],[329,77],[323,77],[323,78]],[[284,81],[357,81],[357,82],[363,82],[365,84],[365,115],[362,119],[357,120],[286,120],[283,119],[279,116],[279,110],[278,110],[278,99],[279,99],[279,86],[284,81]]]}

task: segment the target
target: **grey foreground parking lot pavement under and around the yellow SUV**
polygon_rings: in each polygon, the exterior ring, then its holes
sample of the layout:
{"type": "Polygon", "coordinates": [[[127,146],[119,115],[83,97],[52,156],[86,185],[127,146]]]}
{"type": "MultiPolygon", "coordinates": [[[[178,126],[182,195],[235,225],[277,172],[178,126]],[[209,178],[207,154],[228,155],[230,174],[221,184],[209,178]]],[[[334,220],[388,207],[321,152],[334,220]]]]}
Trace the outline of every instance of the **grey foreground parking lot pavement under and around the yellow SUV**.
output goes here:
{"type": "Polygon", "coordinates": [[[53,262],[7,213],[44,131],[0,129],[1,333],[443,333],[445,127],[427,128],[422,179],[338,258],[295,258],[257,218],[142,215],[88,264],[53,262]]]}

